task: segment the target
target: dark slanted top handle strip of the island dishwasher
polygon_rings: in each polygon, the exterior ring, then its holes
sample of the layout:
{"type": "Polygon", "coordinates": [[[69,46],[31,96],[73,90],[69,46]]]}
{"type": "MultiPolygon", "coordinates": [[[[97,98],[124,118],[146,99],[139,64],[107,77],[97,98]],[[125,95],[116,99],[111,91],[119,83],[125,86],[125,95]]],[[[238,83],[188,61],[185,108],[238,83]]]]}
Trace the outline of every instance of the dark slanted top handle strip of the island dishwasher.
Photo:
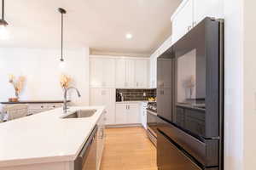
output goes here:
{"type": "Polygon", "coordinates": [[[89,139],[87,139],[86,143],[83,146],[83,149],[80,151],[79,156],[74,161],[74,170],[81,170],[84,165],[84,161],[86,161],[87,156],[90,153],[91,144],[94,142],[96,138],[97,126],[94,127],[92,133],[90,133],[89,139]]]}

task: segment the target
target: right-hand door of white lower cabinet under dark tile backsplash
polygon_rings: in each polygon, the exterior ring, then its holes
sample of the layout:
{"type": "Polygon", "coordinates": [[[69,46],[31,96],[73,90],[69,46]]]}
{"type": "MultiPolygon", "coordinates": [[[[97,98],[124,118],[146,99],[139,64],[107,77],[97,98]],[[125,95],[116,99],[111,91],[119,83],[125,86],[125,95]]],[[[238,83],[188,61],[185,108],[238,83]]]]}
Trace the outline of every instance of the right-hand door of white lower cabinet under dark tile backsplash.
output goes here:
{"type": "Polygon", "coordinates": [[[127,110],[127,123],[141,123],[138,104],[129,104],[127,110]]]}

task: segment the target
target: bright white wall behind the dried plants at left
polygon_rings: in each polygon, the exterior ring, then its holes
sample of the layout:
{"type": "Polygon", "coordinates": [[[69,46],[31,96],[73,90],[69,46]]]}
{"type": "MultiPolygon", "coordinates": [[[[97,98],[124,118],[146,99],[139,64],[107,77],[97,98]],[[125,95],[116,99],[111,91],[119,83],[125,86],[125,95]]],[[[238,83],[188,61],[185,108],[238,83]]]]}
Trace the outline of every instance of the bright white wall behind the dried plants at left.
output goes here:
{"type": "Polygon", "coordinates": [[[14,97],[9,74],[26,77],[20,100],[63,99],[61,73],[73,77],[82,97],[71,93],[76,105],[89,105],[89,48],[64,52],[65,69],[59,67],[59,49],[0,48],[0,101],[14,97]]]}

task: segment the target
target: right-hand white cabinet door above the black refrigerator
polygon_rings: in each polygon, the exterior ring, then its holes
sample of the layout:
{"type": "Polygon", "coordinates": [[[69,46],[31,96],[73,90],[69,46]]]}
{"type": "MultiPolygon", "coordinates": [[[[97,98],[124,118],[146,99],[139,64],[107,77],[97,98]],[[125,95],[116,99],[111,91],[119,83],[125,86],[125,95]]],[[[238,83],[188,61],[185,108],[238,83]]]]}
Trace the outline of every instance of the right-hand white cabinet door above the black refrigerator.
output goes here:
{"type": "Polygon", "coordinates": [[[221,0],[194,0],[194,26],[206,17],[222,18],[221,0]]]}

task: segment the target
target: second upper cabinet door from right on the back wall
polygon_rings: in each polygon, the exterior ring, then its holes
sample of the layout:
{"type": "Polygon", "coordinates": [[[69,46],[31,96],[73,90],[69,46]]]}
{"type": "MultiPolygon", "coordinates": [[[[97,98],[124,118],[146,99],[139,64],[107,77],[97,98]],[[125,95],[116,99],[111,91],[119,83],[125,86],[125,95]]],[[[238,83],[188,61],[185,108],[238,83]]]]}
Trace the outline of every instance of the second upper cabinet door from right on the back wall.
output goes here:
{"type": "Polygon", "coordinates": [[[134,59],[125,59],[125,88],[135,88],[134,59]]]}

